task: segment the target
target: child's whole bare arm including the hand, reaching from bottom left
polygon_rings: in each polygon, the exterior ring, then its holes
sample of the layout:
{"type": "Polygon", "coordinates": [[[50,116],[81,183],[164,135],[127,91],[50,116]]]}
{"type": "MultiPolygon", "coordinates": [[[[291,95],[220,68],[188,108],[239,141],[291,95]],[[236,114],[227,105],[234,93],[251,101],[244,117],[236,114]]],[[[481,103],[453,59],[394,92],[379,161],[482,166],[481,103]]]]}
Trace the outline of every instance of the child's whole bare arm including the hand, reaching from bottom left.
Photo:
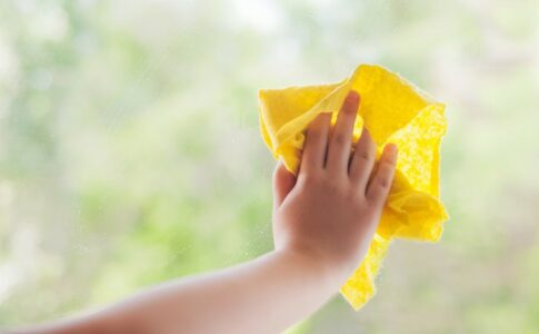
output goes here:
{"type": "Polygon", "coordinates": [[[363,259],[392,183],[397,148],[378,163],[363,130],[351,154],[360,97],[337,124],[310,125],[296,178],[273,175],[275,250],[200,276],[167,282],[104,310],[12,333],[279,333],[335,296],[363,259]]]}

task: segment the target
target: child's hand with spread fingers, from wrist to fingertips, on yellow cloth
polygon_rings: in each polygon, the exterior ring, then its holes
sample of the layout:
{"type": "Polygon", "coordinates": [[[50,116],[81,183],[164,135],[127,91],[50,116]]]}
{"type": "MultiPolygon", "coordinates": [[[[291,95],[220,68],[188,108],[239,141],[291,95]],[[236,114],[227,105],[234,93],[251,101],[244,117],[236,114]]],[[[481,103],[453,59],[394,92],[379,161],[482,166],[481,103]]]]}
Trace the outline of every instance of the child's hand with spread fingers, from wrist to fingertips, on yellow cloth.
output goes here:
{"type": "Polygon", "coordinates": [[[367,130],[350,154],[358,106],[352,90],[331,130],[331,115],[319,115],[309,127],[297,180],[279,164],[273,181],[276,248],[321,266],[338,285],[367,253],[397,161],[390,144],[375,168],[376,146],[367,130]]]}

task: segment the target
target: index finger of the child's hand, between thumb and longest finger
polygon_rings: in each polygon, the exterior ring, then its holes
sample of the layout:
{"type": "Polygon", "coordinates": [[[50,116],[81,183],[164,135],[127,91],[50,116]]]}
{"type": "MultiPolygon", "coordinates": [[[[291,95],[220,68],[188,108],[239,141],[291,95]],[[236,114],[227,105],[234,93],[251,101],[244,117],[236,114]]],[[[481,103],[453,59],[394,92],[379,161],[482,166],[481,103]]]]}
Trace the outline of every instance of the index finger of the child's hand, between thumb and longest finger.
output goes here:
{"type": "Polygon", "coordinates": [[[300,173],[323,168],[330,120],[331,114],[322,112],[309,126],[301,157],[300,173]]]}

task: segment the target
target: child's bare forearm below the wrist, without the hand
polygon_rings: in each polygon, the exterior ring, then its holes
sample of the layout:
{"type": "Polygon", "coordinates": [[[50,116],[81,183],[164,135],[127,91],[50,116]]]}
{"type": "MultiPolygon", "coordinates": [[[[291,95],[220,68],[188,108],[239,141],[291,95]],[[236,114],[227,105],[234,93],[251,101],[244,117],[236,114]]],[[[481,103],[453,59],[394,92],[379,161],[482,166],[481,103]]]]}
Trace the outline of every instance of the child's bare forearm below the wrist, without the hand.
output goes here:
{"type": "Polygon", "coordinates": [[[321,263],[275,250],[152,287],[96,314],[20,333],[277,333],[338,291],[321,263]]]}

